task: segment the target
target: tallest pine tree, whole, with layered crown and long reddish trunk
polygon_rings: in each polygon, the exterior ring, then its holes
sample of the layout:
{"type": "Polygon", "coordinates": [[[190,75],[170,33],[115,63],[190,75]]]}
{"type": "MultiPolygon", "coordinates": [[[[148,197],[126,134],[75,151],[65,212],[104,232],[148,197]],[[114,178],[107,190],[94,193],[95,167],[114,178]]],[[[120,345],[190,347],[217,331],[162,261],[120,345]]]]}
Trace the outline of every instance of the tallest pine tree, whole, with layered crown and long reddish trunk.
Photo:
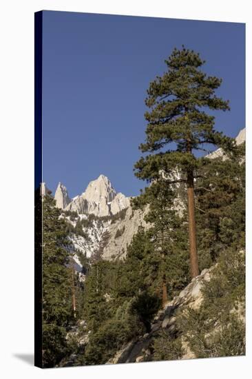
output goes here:
{"type": "Polygon", "coordinates": [[[205,112],[206,108],[229,110],[229,102],[216,96],[222,79],[202,72],[204,61],[198,53],[175,48],[165,63],[167,72],[157,76],[147,90],[146,140],[140,150],[149,154],[135,164],[135,174],[149,182],[162,174],[167,185],[187,185],[190,267],[194,277],[199,271],[193,187],[200,164],[195,152],[206,151],[206,144],[225,148],[233,145],[232,139],[214,130],[215,118],[205,112]]]}

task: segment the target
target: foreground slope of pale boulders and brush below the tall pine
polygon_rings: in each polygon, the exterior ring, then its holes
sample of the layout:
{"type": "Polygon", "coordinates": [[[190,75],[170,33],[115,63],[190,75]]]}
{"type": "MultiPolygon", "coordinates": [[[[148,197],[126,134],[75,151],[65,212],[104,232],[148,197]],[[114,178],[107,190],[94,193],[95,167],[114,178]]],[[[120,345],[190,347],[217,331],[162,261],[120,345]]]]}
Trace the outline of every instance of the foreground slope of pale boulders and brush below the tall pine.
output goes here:
{"type": "MultiPolygon", "coordinates": [[[[244,355],[244,255],[244,250],[224,252],[218,263],[204,269],[158,311],[149,331],[118,345],[120,349],[107,364],[244,355]],[[190,314],[192,317],[188,318],[190,314]]],[[[107,299],[112,300],[109,296],[107,299]]],[[[67,339],[73,339],[78,346],[77,354],[63,360],[61,366],[80,364],[78,358],[92,343],[90,336],[92,331],[87,329],[85,320],[79,320],[67,334],[67,339]]],[[[103,344],[102,329],[101,336],[98,341],[103,344]]]]}

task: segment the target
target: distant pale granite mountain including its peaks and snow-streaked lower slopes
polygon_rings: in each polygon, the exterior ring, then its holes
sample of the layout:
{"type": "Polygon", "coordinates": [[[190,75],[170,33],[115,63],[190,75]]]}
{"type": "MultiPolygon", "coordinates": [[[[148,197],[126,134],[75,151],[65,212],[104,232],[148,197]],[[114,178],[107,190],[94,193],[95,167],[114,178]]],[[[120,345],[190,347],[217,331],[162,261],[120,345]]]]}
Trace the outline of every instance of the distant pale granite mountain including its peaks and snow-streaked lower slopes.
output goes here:
{"type": "MultiPolygon", "coordinates": [[[[74,215],[75,212],[74,216],[65,217],[72,227],[76,227],[79,221],[89,220],[87,225],[82,226],[83,235],[74,232],[71,236],[75,249],[87,258],[97,252],[105,259],[125,256],[127,245],[138,227],[142,224],[146,226],[143,212],[132,212],[130,198],[120,192],[116,194],[112,183],[104,175],[90,182],[85,192],[72,200],[67,195],[66,187],[59,183],[54,198],[56,206],[63,209],[63,214],[74,215]],[[90,215],[95,217],[90,218],[90,215]]],[[[76,263],[79,265],[77,260],[76,263]]]]}

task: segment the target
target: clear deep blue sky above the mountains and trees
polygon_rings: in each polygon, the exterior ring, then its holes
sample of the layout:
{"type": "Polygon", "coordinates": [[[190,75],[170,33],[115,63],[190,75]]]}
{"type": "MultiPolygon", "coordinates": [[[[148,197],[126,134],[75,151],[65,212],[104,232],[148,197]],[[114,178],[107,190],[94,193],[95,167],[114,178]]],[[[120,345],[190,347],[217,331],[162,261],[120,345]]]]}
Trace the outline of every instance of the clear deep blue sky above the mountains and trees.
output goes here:
{"type": "Polygon", "coordinates": [[[145,139],[149,82],[184,44],[222,77],[218,95],[231,112],[215,112],[216,129],[245,127],[245,25],[75,12],[43,12],[43,181],[71,197],[99,174],[136,196],[133,173],[145,139]]]}

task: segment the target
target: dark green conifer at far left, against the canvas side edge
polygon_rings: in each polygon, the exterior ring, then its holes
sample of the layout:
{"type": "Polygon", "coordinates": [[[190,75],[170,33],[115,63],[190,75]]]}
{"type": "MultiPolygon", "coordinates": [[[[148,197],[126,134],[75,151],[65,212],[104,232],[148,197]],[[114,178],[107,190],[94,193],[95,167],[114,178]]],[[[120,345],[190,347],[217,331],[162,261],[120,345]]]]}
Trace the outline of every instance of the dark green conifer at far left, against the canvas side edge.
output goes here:
{"type": "Polygon", "coordinates": [[[43,367],[67,354],[65,335],[73,316],[66,223],[50,196],[43,198],[43,367]]]}

